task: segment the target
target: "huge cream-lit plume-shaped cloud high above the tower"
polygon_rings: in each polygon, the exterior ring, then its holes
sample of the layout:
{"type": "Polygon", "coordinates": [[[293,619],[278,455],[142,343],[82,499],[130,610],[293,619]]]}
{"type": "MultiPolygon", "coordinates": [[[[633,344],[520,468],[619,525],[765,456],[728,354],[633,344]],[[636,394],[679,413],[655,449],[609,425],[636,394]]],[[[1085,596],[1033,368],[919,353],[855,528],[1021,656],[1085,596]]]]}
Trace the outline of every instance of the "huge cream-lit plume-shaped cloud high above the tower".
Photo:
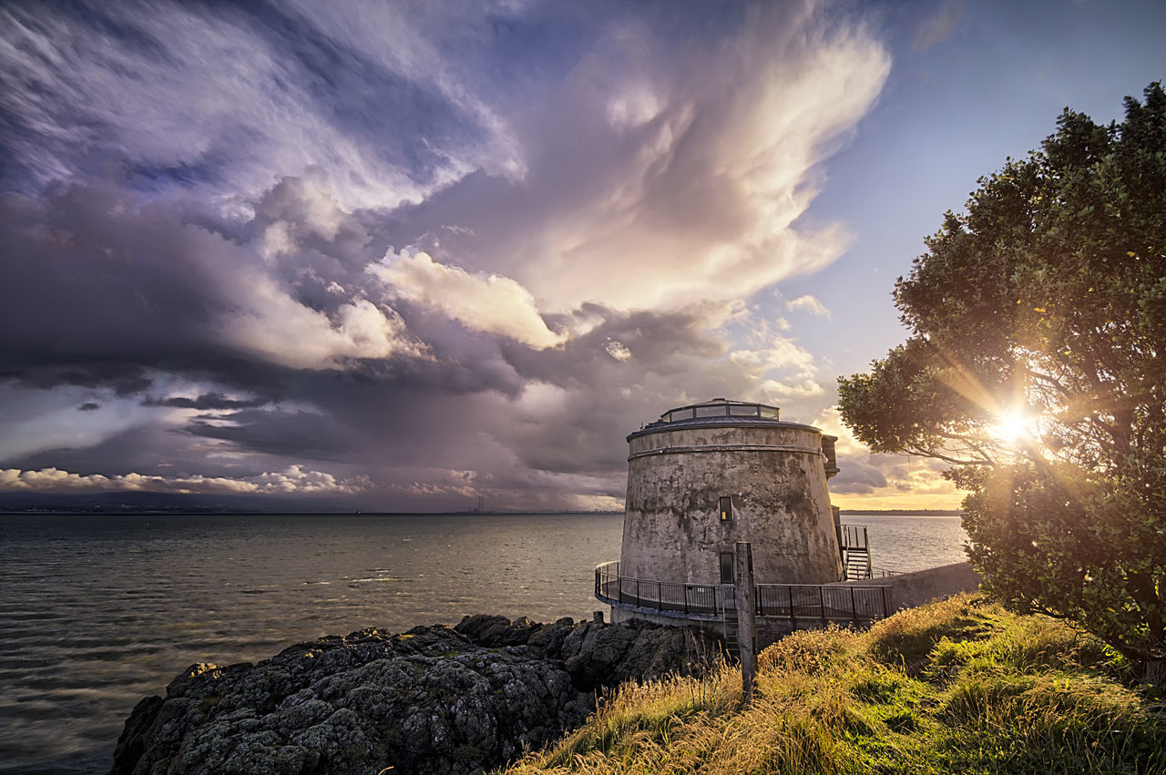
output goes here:
{"type": "Polygon", "coordinates": [[[879,93],[887,54],[814,3],[754,6],[729,23],[677,49],[651,12],[610,21],[515,121],[521,184],[466,176],[402,226],[419,244],[464,227],[472,238],[424,248],[514,279],[543,312],[740,300],[829,265],[845,231],[795,221],[819,163],[879,93]]]}

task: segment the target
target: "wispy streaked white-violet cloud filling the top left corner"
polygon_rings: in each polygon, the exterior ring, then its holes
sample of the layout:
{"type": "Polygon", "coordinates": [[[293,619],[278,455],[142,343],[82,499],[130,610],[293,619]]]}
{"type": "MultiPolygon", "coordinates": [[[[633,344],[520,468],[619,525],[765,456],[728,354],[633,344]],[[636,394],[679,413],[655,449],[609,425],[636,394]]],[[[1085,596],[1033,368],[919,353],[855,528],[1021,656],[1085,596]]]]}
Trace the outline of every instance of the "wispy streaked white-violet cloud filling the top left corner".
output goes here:
{"type": "Polygon", "coordinates": [[[385,44],[392,30],[423,47],[409,14],[315,6],[7,7],[14,165],[40,182],[83,169],[227,196],[316,165],[351,207],[419,202],[510,145],[498,117],[454,99],[464,90],[436,52],[385,44]],[[379,45],[350,45],[371,29],[379,45]],[[416,87],[427,69],[438,94],[416,87]]]}

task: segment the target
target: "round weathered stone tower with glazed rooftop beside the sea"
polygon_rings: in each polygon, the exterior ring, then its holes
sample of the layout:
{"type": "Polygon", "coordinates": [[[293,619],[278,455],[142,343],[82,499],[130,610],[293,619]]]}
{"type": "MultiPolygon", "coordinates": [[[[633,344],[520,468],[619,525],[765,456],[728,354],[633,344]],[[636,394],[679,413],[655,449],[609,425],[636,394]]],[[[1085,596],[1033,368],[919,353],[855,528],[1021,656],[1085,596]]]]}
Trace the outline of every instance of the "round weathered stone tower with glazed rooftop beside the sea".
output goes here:
{"type": "Polygon", "coordinates": [[[731,584],[733,545],[747,541],[759,584],[837,582],[826,486],[838,471],[835,441],[760,403],[714,399],[663,413],[627,437],[619,576],[731,584]]]}

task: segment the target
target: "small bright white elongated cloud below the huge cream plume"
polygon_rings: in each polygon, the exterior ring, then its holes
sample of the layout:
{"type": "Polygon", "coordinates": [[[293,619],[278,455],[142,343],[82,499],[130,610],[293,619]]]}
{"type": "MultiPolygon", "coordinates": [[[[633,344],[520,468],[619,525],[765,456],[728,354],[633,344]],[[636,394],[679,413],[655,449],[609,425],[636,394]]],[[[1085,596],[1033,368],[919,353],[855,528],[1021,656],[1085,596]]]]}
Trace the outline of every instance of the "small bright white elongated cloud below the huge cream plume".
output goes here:
{"type": "Polygon", "coordinates": [[[511,337],[540,350],[564,339],[547,327],[531,293],[510,277],[471,275],[437,263],[427,253],[389,254],[368,272],[391,286],[391,293],[437,309],[476,331],[511,337]]]}

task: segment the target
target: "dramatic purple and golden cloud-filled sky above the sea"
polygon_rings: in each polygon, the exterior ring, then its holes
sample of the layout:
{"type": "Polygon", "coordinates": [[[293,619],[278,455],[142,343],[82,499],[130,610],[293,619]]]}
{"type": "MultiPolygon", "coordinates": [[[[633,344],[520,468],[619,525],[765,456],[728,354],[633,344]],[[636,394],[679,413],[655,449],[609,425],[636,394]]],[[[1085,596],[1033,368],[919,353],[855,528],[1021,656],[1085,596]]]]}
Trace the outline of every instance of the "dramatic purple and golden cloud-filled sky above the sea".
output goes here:
{"type": "Polygon", "coordinates": [[[943,212],[1166,77],[1166,3],[0,3],[0,493],[620,507],[728,396],[953,507],[835,379],[943,212]]]}

